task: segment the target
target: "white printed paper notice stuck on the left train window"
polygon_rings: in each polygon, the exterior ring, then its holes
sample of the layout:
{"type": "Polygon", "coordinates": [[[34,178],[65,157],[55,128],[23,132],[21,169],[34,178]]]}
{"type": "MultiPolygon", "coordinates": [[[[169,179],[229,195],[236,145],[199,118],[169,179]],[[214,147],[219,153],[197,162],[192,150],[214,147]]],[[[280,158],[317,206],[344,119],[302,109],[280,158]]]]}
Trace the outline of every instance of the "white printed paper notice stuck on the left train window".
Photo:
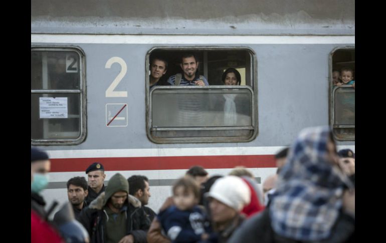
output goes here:
{"type": "Polygon", "coordinates": [[[40,118],[68,118],[67,97],[39,97],[40,118]]]}

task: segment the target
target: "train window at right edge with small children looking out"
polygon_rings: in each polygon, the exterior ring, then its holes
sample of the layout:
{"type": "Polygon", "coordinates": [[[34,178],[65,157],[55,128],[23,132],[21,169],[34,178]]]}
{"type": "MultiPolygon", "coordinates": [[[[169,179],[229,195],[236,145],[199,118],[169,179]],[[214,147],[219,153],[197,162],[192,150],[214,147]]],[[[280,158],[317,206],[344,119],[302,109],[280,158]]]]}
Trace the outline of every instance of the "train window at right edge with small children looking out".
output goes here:
{"type": "Polygon", "coordinates": [[[330,55],[330,124],[337,140],[355,140],[355,49],[330,55]]]}

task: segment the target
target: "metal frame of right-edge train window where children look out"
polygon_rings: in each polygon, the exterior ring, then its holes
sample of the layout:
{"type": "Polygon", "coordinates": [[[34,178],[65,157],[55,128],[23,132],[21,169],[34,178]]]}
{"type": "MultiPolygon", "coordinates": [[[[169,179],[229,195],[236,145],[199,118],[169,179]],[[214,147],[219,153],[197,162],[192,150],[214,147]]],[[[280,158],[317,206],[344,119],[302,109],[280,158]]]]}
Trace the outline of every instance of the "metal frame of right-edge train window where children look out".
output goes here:
{"type": "Polygon", "coordinates": [[[351,87],[350,85],[342,85],[340,87],[333,87],[332,86],[332,59],[334,56],[334,53],[336,51],[341,51],[341,50],[347,50],[347,51],[355,51],[355,46],[345,46],[345,47],[337,47],[334,48],[329,55],[329,79],[328,79],[328,103],[329,103],[329,125],[332,128],[332,133],[334,135],[334,139],[338,141],[355,141],[355,134],[354,135],[341,135],[341,134],[336,134],[335,129],[339,128],[354,128],[355,125],[335,125],[335,92],[338,88],[349,88],[351,87]]]}

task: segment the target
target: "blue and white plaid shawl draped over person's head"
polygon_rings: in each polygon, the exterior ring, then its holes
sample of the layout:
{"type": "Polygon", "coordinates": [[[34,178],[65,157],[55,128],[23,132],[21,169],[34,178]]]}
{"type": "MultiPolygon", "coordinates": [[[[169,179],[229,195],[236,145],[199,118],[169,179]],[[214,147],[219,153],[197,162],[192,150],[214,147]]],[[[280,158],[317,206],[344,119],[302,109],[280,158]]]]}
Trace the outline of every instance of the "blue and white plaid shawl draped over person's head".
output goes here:
{"type": "Polygon", "coordinates": [[[296,240],[330,235],[347,177],[327,160],[329,127],[303,129],[291,147],[270,205],[274,231],[296,240]]]}

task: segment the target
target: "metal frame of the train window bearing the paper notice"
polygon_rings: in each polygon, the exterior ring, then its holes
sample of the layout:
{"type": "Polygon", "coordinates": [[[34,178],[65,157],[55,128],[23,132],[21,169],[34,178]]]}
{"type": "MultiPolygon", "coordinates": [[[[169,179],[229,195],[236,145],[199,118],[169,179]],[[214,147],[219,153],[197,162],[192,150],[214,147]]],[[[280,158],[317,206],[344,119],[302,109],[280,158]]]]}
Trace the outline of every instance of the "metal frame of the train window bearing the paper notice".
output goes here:
{"type": "Polygon", "coordinates": [[[87,134],[87,114],[86,114],[86,55],[77,46],[40,46],[31,45],[31,53],[37,52],[75,52],[79,56],[79,90],[32,90],[32,94],[79,94],[80,95],[80,134],[76,139],[32,139],[31,145],[78,145],[86,139],[87,134]]]}

